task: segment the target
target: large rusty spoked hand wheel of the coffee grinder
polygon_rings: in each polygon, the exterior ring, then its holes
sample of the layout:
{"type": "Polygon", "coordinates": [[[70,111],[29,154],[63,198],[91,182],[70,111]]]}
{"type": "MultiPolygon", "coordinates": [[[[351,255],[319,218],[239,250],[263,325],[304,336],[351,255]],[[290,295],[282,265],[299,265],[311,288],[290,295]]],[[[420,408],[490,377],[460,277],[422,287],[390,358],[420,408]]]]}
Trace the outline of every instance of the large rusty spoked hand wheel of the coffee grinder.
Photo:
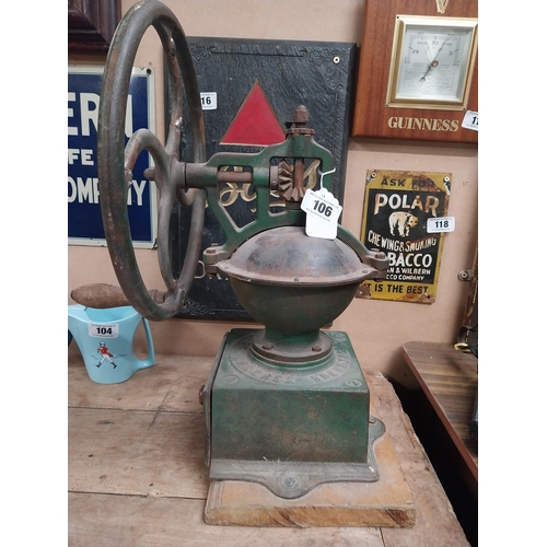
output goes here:
{"type": "Polygon", "coordinates": [[[101,210],[108,251],[116,276],[124,293],[133,307],[144,317],[161,321],[173,316],[181,306],[198,260],[201,242],[205,197],[196,194],[193,205],[190,245],[185,267],[177,280],[173,279],[168,256],[168,221],[176,199],[176,181],[171,178],[171,164],[178,153],[182,124],[182,82],[189,102],[194,158],[205,160],[205,128],[197,75],[184,32],[173,12],[161,2],[150,0],[131,7],[116,30],[106,60],[98,112],[98,179],[101,210]],[[150,132],[136,135],[124,153],[125,113],[129,79],[135,56],[144,32],[153,26],[162,42],[170,72],[171,103],[170,133],[165,148],[150,132]],[[151,299],[135,256],[127,216],[127,178],[135,154],[149,150],[154,162],[155,182],[160,189],[159,261],[167,287],[165,302],[158,304],[151,299]],[[191,264],[190,264],[191,263],[191,264]]]}

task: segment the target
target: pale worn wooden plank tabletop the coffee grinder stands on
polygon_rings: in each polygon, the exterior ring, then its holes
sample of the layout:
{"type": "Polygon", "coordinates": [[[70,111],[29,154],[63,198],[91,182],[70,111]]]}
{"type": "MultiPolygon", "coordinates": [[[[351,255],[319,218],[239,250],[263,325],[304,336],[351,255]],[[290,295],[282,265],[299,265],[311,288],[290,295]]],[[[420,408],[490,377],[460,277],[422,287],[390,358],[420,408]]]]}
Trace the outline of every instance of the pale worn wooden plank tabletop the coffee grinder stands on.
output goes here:
{"type": "Polygon", "coordinates": [[[69,347],[71,547],[468,546],[439,479],[386,379],[365,371],[416,504],[412,528],[209,526],[198,400],[212,359],[156,356],[123,384],[94,384],[69,347]]]}

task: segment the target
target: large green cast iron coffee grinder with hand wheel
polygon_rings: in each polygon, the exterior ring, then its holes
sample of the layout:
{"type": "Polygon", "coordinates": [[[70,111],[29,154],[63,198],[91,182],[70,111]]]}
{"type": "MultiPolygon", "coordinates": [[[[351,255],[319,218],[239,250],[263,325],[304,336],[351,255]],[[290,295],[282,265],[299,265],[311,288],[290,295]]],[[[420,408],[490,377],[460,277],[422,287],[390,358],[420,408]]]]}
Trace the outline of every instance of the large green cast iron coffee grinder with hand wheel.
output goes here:
{"type": "MultiPolygon", "coordinates": [[[[299,106],[283,142],[259,153],[205,158],[200,94],[188,43],[175,15],[155,0],[123,18],[106,61],[98,114],[98,177],[106,241],[120,288],[142,316],[164,321],[179,311],[200,254],[203,210],[214,213],[225,243],[202,260],[208,274],[226,276],[242,305],[264,328],[234,328],[224,336],[200,398],[206,464],[217,480],[266,486],[284,499],[324,482],[375,481],[372,443],[384,432],[370,415],[366,382],[347,334],[322,330],[350,304],[364,279],[382,278],[384,254],[366,249],[339,224],[334,238],[306,235],[301,208],[304,178],[334,170],[328,150],[315,142],[307,112],[299,106]],[[144,32],[158,32],[168,67],[171,121],[165,146],[148,130],[124,149],[127,95],[135,55],[144,32]],[[183,83],[191,123],[194,162],[178,161],[183,83]],[[137,265],[127,214],[128,181],[148,151],[147,176],[159,190],[158,257],[165,291],[148,290],[137,265]],[[221,183],[253,184],[256,217],[237,226],[219,197],[221,183]],[[272,212],[270,196],[284,199],[272,212]],[[188,251],[174,279],[168,223],[175,200],[191,207],[188,251]]],[[[323,176],[321,178],[323,187],[323,176]]],[[[324,188],[330,189],[328,177],[324,188]]],[[[91,307],[119,305],[110,286],[77,289],[91,307]]],[[[181,369],[184,374],[184,369],[181,369]]]]}

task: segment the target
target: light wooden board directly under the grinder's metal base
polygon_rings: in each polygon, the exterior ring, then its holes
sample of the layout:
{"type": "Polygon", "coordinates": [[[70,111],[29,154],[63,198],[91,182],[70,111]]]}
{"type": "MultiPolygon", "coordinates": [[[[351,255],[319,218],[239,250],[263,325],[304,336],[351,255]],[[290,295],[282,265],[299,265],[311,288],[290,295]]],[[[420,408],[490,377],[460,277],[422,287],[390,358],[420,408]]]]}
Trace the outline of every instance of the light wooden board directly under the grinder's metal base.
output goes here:
{"type": "Polygon", "coordinates": [[[278,498],[255,482],[213,480],[205,521],[222,526],[414,526],[412,494],[387,433],[374,443],[374,453],[379,481],[325,484],[296,500],[278,498]]]}

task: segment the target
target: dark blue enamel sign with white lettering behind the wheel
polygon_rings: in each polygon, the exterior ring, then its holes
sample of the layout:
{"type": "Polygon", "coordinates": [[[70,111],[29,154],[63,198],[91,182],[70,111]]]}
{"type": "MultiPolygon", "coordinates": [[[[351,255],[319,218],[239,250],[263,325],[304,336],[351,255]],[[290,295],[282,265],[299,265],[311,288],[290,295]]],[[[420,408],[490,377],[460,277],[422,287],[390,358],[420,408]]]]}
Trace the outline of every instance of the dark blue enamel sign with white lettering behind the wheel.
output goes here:
{"type": "MultiPolygon", "coordinates": [[[[68,69],[68,242],[106,245],[101,219],[97,175],[97,118],[103,67],[68,69]]],[[[154,127],[154,78],[151,69],[135,68],[129,84],[126,142],[137,129],[154,127]]],[[[156,236],[155,185],[143,176],[152,165],[139,155],[127,194],[135,247],[153,247],[156,236]]]]}

